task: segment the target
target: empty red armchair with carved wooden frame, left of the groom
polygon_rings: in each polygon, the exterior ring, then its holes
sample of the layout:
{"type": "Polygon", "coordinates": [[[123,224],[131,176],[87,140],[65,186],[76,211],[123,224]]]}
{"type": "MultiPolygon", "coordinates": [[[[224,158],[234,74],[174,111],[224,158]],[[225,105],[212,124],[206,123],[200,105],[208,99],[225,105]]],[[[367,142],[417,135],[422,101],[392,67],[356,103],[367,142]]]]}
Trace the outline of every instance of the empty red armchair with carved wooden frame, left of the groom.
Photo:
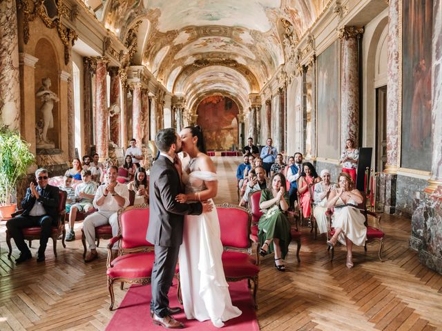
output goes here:
{"type": "MultiPolygon", "coordinates": [[[[146,232],[149,224],[148,205],[137,205],[118,211],[119,234],[113,237],[108,244],[107,279],[108,290],[111,294],[113,309],[115,297],[113,283],[147,285],[151,283],[153,261],[155,259],[154,246],[146,241],[146,232]],[[118,257],[111,261],[113,245],[119,241],[118,257]]],[[[175,273],[177,270],[175,270],[175,273]]]]}

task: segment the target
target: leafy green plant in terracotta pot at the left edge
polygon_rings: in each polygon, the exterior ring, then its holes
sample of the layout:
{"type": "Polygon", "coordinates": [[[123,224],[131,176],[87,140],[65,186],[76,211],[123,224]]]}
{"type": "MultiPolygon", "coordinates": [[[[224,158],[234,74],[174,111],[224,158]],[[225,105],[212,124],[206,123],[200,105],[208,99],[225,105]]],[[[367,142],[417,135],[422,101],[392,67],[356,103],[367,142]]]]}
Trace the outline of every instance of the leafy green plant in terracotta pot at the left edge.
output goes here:
{"type": "Polygon", "coordinates": [[[26,176],[35,162],[29,146],[18,132],[0,128],[0,219],[9,219],[15,212],[17,204],[10,201],[17,181],[26,176]]]}

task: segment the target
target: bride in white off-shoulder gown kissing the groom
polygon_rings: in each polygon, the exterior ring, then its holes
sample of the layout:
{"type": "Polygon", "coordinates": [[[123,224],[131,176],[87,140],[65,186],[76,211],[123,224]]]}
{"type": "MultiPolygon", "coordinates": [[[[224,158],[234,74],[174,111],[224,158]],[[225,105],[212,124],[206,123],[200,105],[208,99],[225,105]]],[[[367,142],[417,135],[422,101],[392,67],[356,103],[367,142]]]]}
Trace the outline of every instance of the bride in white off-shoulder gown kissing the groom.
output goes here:
{"type": "MultiPolygon", "coordinates": [[[[186,194],[178,194],[176,199],[182,203],[211,200],[217,194],[218,179],[215,165],[205,154],[202,131],[199,126],[191,126],[184,128],[180,136],[182,150],[190,159],[183,160],[186,194]]],[[[187,319],[210,319],[218,328],[242,313],[232,305],[221,254],[216,208],[201,215],[186,215],[178,259],[184,312],[187,319]]]]}

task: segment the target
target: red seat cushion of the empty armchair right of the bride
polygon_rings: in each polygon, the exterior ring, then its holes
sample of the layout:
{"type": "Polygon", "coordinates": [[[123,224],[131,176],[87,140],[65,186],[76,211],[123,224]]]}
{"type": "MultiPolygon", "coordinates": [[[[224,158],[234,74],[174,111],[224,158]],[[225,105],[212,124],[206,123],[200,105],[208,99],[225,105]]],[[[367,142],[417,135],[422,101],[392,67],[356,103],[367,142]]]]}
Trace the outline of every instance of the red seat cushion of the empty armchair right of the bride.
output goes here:
{"type": "Polygon", "coordinates": [[[242,252],[222,252],[222,267],[227,278],[254,277],[260,271],[253,257],[242,252]]]}

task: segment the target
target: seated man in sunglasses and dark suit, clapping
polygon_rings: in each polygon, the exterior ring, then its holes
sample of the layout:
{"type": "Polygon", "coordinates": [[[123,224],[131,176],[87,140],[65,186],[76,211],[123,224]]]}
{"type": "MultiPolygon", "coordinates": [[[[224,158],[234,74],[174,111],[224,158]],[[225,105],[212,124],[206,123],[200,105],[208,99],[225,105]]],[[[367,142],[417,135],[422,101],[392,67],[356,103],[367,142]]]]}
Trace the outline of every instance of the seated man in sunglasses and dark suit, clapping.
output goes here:
{"type": "Polygon", "coordinates": [[[44,261],[44,251],[50,237],[52,226],[57,225],[57,208],[59,202],[58,188],[48,184],[48,170],[40,168],[35,172],[37,185],[30,183],[26,196],[21,201],[23,213],[6,222],[6,228],[20,250],[20,257],[15,259],[19,264],[32,258],[32,254],[23,239],[23,228],[40,226],[40,248],[37,262],[44,261]]]}

